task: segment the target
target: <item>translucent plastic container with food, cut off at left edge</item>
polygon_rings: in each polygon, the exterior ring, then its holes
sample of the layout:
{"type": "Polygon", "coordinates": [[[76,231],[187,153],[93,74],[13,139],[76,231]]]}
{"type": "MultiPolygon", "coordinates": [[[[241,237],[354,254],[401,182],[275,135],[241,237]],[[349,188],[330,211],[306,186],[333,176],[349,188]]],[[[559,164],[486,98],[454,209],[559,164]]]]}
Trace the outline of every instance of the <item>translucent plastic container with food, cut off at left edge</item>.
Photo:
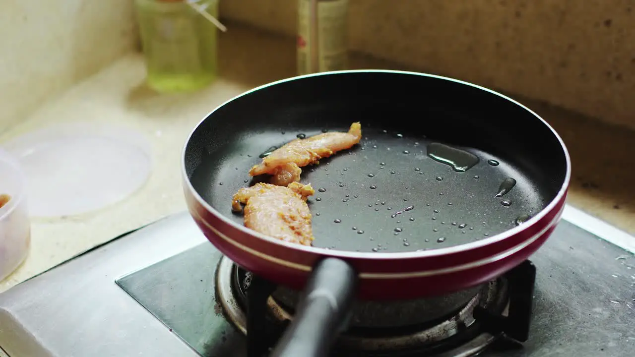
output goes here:
{"type": "Polygon", "coordinates": [[[20,266],[29,252],[31,234],[24,181],[17,159],[0,149],[0,195],[9,196],[0,207],[0,280],[20,266]]]}

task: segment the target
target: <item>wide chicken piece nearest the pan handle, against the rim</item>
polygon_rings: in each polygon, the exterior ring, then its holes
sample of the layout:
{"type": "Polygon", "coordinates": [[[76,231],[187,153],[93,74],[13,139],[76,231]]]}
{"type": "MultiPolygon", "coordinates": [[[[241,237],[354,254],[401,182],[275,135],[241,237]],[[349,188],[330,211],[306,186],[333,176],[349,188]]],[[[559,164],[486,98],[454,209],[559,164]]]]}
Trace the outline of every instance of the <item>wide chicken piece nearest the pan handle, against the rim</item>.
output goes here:
{"type": "Polygon", "coordinates": [[[307,197],[315,191],[311,184],[291,182],[288,187],[258,183],[234,194],[232,210],[245,206],[244,225],[267,236],[291,243],[311,245],[311,211],[307,197]]]}

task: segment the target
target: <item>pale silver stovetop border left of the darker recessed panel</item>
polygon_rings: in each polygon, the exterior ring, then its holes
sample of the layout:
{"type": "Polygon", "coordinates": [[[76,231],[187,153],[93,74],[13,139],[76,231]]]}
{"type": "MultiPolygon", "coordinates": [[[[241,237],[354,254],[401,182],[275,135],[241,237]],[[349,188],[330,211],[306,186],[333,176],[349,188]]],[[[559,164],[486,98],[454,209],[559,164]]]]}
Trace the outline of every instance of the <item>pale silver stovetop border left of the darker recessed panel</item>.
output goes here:
{"type": "Polygon", "coordinates": [[[198,356],[114,281],[203,241],[182,213],[11,288],[0,346],[11,357],[198,356]]]}

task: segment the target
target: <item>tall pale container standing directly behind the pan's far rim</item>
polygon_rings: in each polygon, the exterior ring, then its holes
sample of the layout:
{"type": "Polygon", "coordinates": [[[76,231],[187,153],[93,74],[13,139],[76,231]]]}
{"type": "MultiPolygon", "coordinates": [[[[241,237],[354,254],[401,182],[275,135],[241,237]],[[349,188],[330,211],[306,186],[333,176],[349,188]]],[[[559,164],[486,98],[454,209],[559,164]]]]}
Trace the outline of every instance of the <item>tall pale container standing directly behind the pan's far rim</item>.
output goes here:
{"type": "Polygon", "coordinates": [[[348,8],[349,0],[298,0],[298,74],[347,68],[348,8]]]}

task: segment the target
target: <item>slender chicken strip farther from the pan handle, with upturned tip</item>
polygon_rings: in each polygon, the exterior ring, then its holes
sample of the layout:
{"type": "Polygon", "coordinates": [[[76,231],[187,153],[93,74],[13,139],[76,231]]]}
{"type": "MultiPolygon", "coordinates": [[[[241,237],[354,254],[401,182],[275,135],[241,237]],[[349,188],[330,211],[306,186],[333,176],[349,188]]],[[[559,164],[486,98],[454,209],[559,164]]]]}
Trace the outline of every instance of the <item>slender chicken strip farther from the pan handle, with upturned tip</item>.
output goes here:
{"type": "Polygon", "coordinates": [[[300,167],[328,158],[340,150],[349,149],[361,139],[361,125],[352,123],[347,133],[334,131],[305,139],[295,139],[274,150],[249,171],[251,176],[268,173],[271,183],[286,186],[300,180],[300,167]]]}

